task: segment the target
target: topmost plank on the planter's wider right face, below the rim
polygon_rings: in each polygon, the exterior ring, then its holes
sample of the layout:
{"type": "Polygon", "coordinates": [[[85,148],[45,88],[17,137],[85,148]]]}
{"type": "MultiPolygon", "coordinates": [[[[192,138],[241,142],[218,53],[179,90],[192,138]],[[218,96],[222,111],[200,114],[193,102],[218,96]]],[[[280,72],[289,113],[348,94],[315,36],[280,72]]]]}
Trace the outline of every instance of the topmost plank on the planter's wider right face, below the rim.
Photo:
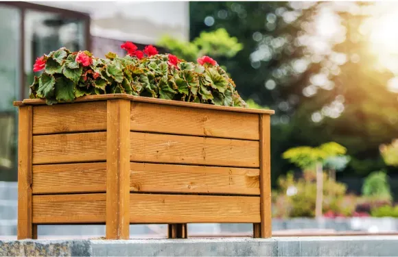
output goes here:
{"type": "Polygon", "coordinates": [[[259,116],[132,101],[132,131],[259,140],[259,116]]]}

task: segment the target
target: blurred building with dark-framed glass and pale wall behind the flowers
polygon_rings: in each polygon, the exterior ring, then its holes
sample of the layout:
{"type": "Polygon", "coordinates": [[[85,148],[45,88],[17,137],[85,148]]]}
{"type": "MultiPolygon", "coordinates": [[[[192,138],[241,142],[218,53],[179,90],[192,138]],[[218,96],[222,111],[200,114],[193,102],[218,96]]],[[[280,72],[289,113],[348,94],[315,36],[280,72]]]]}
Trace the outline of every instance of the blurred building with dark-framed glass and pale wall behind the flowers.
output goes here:
{"type": "Polygon", "coordinates": [[[16,181],[17,112],[37,57],[60,47],[124,55],[121,42],[189,39],[188,2],[0,2],[0,181],[16,181]]]}

